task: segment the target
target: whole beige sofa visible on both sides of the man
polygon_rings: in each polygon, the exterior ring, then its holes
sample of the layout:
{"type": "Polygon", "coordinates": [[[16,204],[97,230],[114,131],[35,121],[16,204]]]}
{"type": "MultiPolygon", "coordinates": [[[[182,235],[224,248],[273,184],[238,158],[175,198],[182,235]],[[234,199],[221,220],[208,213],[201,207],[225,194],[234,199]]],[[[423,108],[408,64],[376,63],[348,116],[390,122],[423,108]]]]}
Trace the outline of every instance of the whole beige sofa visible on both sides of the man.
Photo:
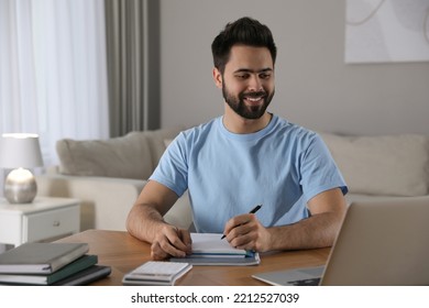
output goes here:
{"type": "MultiPolygon", "coordinates": [[[[145,185],[144,179],[168,141],[183,129],[133,132],[108,141],[58,141],[61,165],[56,173],[38,176],[38,194],[80,199],[81,230],[125,230],[128,212],[145,185]]],[[[429,194],[427,136],[320,135],[349,185],[349,202],[429,194]]],[[[165,219],[183,228],[191,224],[186,194],[165,219]]]]}

